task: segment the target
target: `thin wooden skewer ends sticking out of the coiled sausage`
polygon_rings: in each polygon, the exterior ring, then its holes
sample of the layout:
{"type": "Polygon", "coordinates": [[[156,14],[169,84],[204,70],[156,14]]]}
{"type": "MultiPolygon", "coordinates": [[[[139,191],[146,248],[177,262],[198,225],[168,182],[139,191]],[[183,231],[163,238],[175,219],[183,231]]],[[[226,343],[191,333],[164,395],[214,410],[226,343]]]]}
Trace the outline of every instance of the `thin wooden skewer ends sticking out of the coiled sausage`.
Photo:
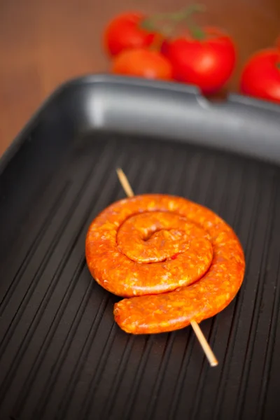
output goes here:
{"type": "MultiPolygon", "coordinates": [[[[123,172],[123,169],[118,168],[117,174],[118,174],[118,179],[120,180],[120,185],[123,187],[123,190],[125,191],[125,194],[127,195],[127,197],[133,197],[134,196],[133,190],[130,186],[130,183],[128,182],[127,177],[125,176],[123,172]]],[[[190,325],[192,325],[195,335],[197,336],[197,339],[200,342],[200,345],[202,346],[202,349],[205,353],[205,356],[207,356],[207,359],[210,365],[211,366],[218,365],[218,360],[216,359],[216,356],[214,355],[211,347],[209,346],[207,339],[204,337],[204,334],[202,330],[200,329],[200,325],[198,325],[197,321],[190,321],[190,325]]]]}

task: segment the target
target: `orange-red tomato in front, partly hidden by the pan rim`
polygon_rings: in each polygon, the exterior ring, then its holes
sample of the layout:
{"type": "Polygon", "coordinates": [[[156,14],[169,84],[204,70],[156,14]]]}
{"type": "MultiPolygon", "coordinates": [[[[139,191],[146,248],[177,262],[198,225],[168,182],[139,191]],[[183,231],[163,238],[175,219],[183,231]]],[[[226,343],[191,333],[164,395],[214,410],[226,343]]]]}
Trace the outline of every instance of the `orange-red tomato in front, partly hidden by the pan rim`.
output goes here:
{"type": "Polygon", "coordinates": [[[145,48],[121,52],[113,60],[112,71],[126,76],[172,80],[172,66],[165,56],[145,48]]]}

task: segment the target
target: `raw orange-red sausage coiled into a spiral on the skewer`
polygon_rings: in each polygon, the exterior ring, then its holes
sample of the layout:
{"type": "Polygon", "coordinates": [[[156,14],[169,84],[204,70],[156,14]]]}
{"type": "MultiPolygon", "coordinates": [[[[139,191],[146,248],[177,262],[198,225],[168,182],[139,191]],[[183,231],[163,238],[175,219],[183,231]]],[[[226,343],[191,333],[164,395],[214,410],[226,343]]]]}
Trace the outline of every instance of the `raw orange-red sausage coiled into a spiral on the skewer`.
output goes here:
{"type": "Polygon", "coordinates": [[[139,195],[120,200],[91,223],[87,266],[115,304],[126,332],[177,330],[216,315],[244,278],[244,253],[209,209],[181,197],[139,195]]]}

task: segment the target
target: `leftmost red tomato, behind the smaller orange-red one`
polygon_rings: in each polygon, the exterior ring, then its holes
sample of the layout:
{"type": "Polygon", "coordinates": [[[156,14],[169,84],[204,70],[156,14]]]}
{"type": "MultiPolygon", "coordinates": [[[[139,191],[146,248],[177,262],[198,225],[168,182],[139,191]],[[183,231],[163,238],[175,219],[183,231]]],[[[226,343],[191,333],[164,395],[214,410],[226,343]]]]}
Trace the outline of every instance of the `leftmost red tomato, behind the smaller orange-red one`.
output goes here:
{"type": "Polygon", "coordinates": [[[104,44],[109,55],[151,45],[154,34],[140,27],[144,18],[141,13],[124,13],[109,22],[104,32],[104,44]]]}

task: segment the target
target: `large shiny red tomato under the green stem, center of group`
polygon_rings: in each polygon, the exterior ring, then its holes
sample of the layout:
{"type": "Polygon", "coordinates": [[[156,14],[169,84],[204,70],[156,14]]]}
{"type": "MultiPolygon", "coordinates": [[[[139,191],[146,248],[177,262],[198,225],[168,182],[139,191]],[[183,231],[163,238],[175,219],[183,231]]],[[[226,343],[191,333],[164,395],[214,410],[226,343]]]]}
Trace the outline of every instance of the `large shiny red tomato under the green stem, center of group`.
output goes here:
{"type": "Polygon", "coordinates": [[[205,38],[190,35],[164,43],[162,52],[173,65],[174,78],[214,93],[230,78],[235,68],[235,45],[227,34],[204,28],[205,38]]]}

